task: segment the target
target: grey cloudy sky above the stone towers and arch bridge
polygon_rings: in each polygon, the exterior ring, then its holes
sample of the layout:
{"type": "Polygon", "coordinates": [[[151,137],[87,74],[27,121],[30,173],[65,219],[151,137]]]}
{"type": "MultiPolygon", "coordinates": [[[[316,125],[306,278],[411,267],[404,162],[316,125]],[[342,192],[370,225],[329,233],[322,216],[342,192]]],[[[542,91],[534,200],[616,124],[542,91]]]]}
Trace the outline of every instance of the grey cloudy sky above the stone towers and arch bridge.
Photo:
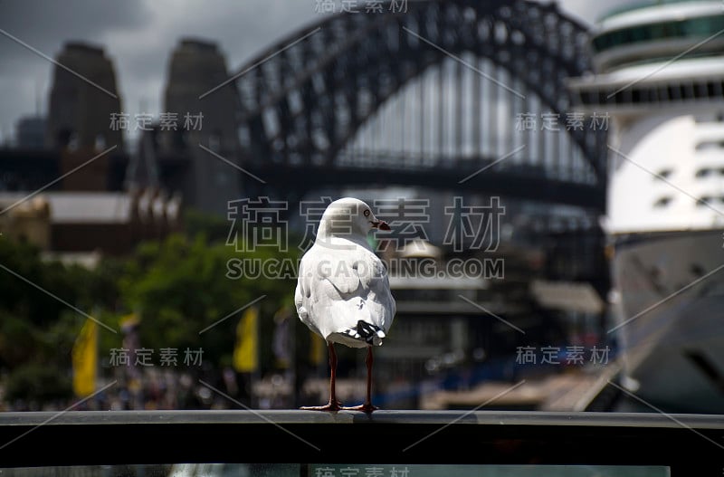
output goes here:
{"type": "MultiPolygon", "coordinates": [[[[413,1],[413,0],[410,0],[413,1]]],[[[484,1],[484,0],[481,0],[484,1]]],[[[561,0],[562,8],[592,22],[631,0],[561,0]]],[[[237,70],[265,46],[322,19],[319,0],[0,0],[0,142],[17,119],[32,115],[39,99],[46,112],[51,62],[62,44],[102,45],[113,61],[123,112],[157,116],[167,62],[178,40],[215,41],[237,70]],[[10,37],[14,37],[12,39],[10,37]]],[[[358,0],[357,5],[365,5],[358,0]]]]}

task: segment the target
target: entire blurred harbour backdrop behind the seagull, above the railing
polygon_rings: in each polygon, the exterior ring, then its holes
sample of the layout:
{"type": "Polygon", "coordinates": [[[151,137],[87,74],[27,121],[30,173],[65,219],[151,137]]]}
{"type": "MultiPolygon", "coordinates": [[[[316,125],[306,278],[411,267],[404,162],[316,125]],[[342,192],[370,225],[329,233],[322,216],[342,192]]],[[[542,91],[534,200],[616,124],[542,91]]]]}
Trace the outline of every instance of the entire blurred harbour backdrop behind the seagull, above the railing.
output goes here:
{"type": "Polygon", "coordinates": [[[0,410],[326,401],[340,196],[392,225],[379,407],[724,410],[720,2],[0,11],[0,410]]]}

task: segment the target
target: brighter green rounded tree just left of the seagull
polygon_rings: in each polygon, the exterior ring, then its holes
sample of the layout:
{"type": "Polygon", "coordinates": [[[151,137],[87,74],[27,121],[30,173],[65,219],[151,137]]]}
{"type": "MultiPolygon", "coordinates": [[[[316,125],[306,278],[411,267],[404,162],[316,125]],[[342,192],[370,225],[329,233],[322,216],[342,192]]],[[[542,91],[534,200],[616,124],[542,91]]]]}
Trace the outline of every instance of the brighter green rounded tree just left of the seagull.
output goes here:
{"type": "MultiPolygon", "coordinates": [[[[296,263],[296,253],[244,253],[243,260],[296,263]]],[[[229,276],[240,260],[233,246],[209,242],[205,234],[182,234],[145,243],[127,263],[119,290],[129,311],[140,315],[139,336],[146,348],[203,348],[215,366],[228,363],[235,327],[247,303],[261,306],[262,365],[271,362],[273,314],[293,296],[294,270],[287,276],[229,276]],[[234,312],[236,311],[236,312],[234,312]]]]}

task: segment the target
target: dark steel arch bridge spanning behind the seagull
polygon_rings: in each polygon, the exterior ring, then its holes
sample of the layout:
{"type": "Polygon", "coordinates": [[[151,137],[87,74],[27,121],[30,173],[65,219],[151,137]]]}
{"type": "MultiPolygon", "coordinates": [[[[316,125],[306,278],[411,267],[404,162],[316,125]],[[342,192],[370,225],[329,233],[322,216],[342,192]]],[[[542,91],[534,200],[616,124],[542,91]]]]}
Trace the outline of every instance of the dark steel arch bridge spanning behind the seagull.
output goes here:
{"type": "Polygon", "coordinates": [[[587,40],[586,26],[557,5],[527,0],[410,1],[405,13],[325,17],[234,75],[240,165],[290,193],[334,182],[398,184],[602,211],[606,130],[571,128],[564,118],[572,106],[567,78],[591,70],[587,40]],[[385,160],[346,160],[361,131],[405,87],[418,81],[420,98],[429,96],[421,79],[434,69],[438,93],[430,101],[438,108],[428,108],[418,136],[422,144],[437,135],[437,143],[416,152],[367,148],[362,156],[385,160]],[[452,113],[441,104],[452,104],[452,113]],[[496,135],[500,104],[517,113],[545,109],[561,132],[551,138],[537,126],[527,135],[496,135]],[[432,159],[409,160],[415,155],[432,159]]]}

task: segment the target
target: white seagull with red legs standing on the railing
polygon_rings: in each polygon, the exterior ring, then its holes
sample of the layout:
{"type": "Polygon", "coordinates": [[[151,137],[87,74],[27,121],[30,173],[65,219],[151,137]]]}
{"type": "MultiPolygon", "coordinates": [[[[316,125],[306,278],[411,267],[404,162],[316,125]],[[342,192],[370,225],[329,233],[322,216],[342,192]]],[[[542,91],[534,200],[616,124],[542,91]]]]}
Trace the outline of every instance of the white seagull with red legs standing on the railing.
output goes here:
{"type": "Polygon", "coordinates": [[[395,318],[385,264],[367,243],[372,229],[390,230],[369,205],[353,197],[338,199],[322,215],[317,237],[301,258],[294,301],[300,320],[327,341],[329,403],[302,409],[371,413],[372,348],[382,345],[395,318]],[[335,395],[335,343],[367,348],[367,398],[363,405],[342,407],[335,395]]]}

